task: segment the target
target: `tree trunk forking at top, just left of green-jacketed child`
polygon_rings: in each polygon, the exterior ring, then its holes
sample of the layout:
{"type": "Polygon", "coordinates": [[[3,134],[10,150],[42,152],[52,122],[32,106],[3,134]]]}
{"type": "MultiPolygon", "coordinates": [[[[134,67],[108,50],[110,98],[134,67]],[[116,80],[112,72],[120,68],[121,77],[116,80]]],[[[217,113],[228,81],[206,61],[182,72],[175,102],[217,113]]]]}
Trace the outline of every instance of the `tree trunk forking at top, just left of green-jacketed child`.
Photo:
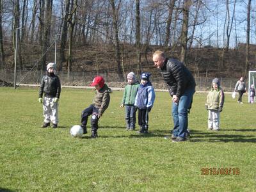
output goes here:
{"type": "Polygon", "coordinates": [[[118,39],[118,10],[120,6],[120,1],[118,4],[118,8],[116,10],[115,7],[115,0],[109,0],[111,7],[112,7],[112,12],[113,12],[113,26],[114,26],[114,33],[115,33],[115,60],[117,63],[117,72],[118,72],[118,77],[120,81],[124,81],[124,76],[122,75],[122,68],[121,68],[121,60],[120,60],[120,45],[119,45],[119,39],[118,39]]]}

